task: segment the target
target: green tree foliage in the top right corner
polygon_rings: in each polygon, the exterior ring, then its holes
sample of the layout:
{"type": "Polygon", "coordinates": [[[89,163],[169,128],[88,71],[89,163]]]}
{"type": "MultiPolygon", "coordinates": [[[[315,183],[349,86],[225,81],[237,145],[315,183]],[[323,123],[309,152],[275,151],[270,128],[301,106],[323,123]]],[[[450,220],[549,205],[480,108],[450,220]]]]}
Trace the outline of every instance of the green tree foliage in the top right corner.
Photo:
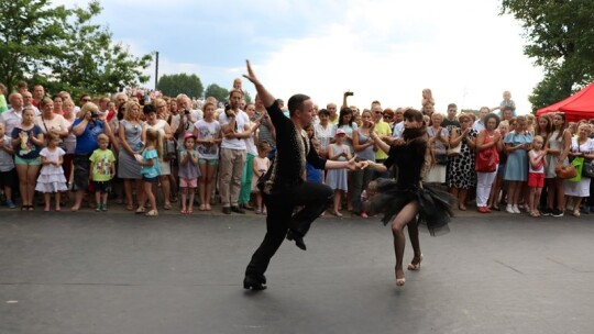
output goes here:
{"type": "Polygon", "coordinates": [[[529,98],[535,110],[594,79],[594,1],[503,0],[502,13],[521,22],[528,41],[524,53],[544,68],[529,98]]]}

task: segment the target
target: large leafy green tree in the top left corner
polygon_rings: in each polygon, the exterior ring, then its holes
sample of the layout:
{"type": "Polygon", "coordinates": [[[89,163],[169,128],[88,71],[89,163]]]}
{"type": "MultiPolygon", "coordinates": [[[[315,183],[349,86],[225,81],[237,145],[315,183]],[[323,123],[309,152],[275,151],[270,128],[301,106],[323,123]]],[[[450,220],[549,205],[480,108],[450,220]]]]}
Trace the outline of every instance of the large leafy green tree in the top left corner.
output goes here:
{"type": "Polygon", "coordinates": [[[145,82],[151,55],[132,56],[111,33],[92,23],[99,1],[86,9],[54,7],[50,0],[0,1],[0,80],[21,78],[50,91],[113,92],[145,82]]]}

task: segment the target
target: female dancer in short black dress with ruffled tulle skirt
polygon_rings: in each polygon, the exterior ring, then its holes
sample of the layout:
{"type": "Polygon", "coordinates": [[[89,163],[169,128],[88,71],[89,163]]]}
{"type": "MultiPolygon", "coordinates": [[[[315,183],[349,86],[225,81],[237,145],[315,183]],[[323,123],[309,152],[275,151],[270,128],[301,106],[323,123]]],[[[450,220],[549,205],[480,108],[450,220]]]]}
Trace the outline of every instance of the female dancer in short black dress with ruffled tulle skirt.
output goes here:
{"type": "Polygon", "coordinates": [[[382,172],[394,164],[398,166],[397,181],[383,180],[378,182],[378,193],[367,203],[372,211],[384,213],[384,224],[392,221],[394,252],[396,254],[396,286],[398,287],[405,285],[403,270],[406,243],[403,233],[404,226],[408,225],[408,236],[415,250],[408,270],[419,270],[422,255],[418,224],[427,225],[431,234],[435,235],[438,229],[447,226],[450,216],[453,215],[451,210],[453,198],[444,191],[421,183],[422,174],[428,169],[426,164],[428,140],[422,114],[420,111],[409,109],[405,111],[404,118],[403,137],[395,141],[393,146],[384,143],[372,129],[372,140],[378,144],[382,151],[388,153],[388,158],[383,165],[369,163],[369,168],[382,172]],[[418,220],[415,220],[417,214],[418,220]]]}

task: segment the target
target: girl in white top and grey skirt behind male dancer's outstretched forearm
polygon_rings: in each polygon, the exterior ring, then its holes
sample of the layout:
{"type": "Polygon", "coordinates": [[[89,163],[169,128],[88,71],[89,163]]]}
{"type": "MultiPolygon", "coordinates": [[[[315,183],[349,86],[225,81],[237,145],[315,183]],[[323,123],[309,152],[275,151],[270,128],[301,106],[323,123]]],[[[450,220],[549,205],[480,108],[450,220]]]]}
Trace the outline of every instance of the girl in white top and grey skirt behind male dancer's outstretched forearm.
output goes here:
{"type": "MultiPolygon", "coordinates": [[[[346,133],[338,129],[334,136],[334,144],[328,146],[328,158],[330,160],[344,162],[351,159],[351,148],[344,144],[346,133]]],[[[349,190],[346,180],[346,169],[330,169],[327,171],[326,185],[334,190],[334,207],[332,214],[342,216],[340,213],[340,202],[342,194],[349,190]]]]}

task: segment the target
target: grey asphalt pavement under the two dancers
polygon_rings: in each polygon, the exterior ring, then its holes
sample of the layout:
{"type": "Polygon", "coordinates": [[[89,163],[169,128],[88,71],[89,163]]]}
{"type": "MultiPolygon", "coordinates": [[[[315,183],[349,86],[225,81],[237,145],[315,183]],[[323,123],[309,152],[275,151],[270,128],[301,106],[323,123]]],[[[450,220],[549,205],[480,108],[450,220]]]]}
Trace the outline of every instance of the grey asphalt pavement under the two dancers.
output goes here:
{"type": "Polygon", "coordinates": [[[262,215],[2,208],[0,333],[593,332],[594,215],[466,211],[450,230],[421,233],[421,269],[398,288],[389,227],[327,215],[253,292],[262,215]]]}

